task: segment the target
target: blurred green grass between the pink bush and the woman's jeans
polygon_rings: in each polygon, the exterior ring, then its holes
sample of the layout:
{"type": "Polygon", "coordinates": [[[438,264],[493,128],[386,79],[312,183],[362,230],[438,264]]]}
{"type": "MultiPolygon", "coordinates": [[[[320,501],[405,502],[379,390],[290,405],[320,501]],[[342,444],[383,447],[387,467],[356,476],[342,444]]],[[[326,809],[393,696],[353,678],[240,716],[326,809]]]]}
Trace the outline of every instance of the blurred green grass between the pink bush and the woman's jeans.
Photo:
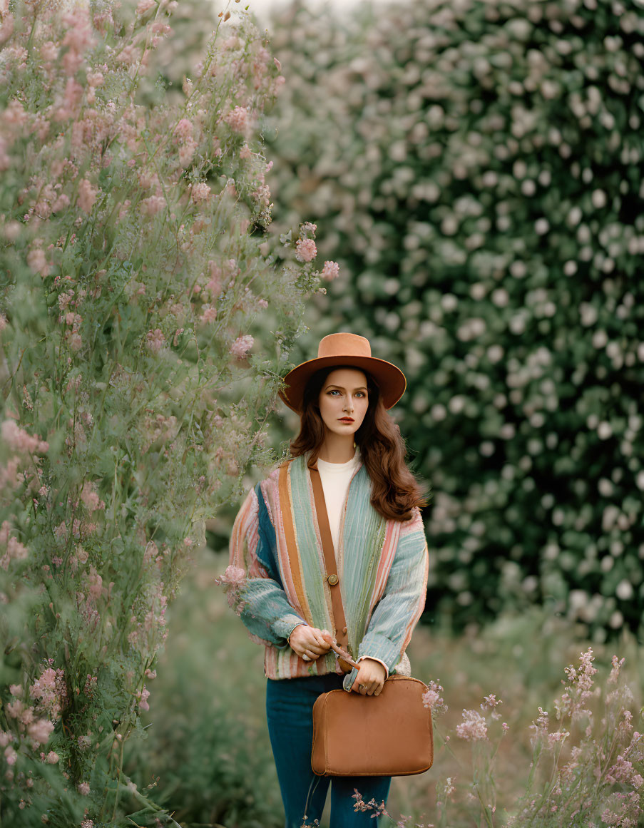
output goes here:
{"type": "Polygon", "coordinates": [[[203,550],[172,604],[147,739],[127,744],[124,768],[181,825],[281,828],[262,647],[213,585],[225,566],[203,550]]]}

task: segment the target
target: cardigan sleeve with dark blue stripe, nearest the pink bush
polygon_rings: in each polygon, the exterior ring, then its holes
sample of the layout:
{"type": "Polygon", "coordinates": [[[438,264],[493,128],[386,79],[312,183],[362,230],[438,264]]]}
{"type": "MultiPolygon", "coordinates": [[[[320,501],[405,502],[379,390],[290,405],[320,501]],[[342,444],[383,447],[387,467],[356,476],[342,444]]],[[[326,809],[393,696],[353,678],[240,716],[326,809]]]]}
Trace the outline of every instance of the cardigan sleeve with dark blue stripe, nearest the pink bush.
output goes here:
{"type": "Polygon", "coordinates": [[[275,529],[260,484],[248,492],[235,518],[228,569],[217,583],[225,586],[228,604],[257,643],[285,649],[291,632],[306,623],[282,588],[275,529]]]}

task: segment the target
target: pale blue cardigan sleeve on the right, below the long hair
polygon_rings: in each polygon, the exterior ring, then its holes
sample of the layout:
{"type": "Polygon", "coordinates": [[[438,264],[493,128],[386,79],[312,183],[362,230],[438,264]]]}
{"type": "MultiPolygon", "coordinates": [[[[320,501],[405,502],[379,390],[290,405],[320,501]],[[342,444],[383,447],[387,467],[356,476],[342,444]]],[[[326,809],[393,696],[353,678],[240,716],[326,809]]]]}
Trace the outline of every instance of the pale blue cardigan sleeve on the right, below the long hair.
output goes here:
{"type": "Polygon", "coordinates": [[[387,585],[373,609],[358,657],[376,658],[389,672],[394,670],[425,607],[428,570],[427,539],[416,507],[401,527],[387,585]]]}

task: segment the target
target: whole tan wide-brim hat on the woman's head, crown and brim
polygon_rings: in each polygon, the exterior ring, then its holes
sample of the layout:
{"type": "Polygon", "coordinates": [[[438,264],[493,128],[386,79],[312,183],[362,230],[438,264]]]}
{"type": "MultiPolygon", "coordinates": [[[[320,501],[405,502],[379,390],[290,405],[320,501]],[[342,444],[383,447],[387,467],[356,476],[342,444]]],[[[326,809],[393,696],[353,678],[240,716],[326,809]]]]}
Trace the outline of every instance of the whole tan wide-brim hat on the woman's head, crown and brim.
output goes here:
{"type": "Polygon", "coordinates": [[[308,359],[286,374],[286,389],[280,392],[281,399],[301,414],[306,383],[320,368],[333,365],[349,365],[368,371],[378,383],[385,408],[395,406],[405,393],[405,374],[387,360],[372,357],[368,339],[357,334],[329,334],[320,339],[316,359],[308,359]]]}

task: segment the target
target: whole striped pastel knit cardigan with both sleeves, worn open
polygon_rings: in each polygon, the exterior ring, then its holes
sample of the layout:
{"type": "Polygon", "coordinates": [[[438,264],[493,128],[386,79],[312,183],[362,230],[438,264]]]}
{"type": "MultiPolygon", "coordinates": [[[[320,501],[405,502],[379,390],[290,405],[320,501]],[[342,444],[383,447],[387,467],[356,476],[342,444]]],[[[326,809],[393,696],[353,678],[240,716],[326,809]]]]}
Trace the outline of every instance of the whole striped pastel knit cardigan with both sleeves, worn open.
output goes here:
{"type": "MultiPolygon", "coordinates": [[[[287,641],[302,622],[335,632],[309,456],[281,465],[248,492],[219,581],[251,638],[266,646],[264,672],[272,679],[342,672],[333,651],[305,662],[287,641]],[[296,560],[287,554],[286,532],[295,533],[296,560]]],[[[335,553],[348,648],[354,658],[374,657],[390,673],[401,672],[425,605],[427,542],[419,508],[408,521],[387,520],[370,496],[371,480],[361,463],[348,484],[335,553]]],[[[354,668],[345,676],[345,689],[356,675],[354,668]]]]}

